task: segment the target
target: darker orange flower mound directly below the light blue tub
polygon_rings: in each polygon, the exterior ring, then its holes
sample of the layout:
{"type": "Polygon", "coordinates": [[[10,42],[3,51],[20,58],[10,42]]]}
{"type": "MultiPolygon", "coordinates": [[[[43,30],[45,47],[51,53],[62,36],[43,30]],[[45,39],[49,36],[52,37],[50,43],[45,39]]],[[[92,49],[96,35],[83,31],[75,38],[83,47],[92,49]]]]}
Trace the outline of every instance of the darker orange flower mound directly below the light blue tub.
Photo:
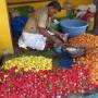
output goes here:
{"type": "Polygon", "coordinates": [[[90,34],[82,34],[75,38],[69,40],[70,45],[85,47],[86,49],[93,49],[98,47],[98,36],[90,34]]]}

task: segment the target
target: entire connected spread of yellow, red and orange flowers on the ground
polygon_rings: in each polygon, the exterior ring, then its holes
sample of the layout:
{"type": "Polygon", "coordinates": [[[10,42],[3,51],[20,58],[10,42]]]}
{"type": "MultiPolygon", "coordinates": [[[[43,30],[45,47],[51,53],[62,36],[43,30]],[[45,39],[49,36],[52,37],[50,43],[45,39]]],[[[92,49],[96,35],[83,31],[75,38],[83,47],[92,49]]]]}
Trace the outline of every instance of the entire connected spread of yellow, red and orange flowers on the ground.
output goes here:
{"type": "Polygon", "coordinates": [[[89,34],[70,40],[71,45],[88,49],[87,56],[78,58],[70,70],[52,68],[52,56],[23,56],[7,61],[4,72],[0,71],[0,98],[66,98],[91,91],[98,87],[97,40],[89,34]]]}

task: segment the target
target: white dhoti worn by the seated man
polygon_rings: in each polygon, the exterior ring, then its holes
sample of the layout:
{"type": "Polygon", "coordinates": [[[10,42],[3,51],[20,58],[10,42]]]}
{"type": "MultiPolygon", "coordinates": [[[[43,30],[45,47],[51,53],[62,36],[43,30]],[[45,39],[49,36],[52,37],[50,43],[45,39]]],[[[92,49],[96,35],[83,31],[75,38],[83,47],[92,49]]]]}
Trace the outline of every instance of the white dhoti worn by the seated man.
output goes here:
{"type": "Polygon", "coordinates": [[[46,47],[47,38],[40,34],[30,34],[23,32],[22,36],[19,39],[20,48],[32,48],[36,50],[44,50],[46,47]]]}

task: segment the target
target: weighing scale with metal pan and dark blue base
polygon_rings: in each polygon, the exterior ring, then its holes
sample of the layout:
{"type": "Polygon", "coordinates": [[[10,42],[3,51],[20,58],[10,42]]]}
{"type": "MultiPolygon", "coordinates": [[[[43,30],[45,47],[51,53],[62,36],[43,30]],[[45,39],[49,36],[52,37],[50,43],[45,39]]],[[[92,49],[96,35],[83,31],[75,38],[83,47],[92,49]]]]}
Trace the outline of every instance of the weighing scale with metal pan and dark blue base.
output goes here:
{"type": "Polygon", "coordinates": [[[86,56],[87,50],[77,46],[64,46],[54,47],[53,51],[58,56],[60,66],[65,69],[72,69],[74,60],[78,57],[86,56]]]}

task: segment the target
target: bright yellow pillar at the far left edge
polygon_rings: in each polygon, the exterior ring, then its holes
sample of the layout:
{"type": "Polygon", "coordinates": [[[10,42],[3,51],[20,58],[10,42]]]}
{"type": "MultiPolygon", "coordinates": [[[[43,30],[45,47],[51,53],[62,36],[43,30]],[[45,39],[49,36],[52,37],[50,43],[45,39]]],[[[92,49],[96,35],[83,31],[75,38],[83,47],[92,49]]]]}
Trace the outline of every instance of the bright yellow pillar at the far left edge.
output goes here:
{"type": "Polygon", "coordinates": [[[5,0],[0,0],[0,54],[13,52],[5,0]]]}

